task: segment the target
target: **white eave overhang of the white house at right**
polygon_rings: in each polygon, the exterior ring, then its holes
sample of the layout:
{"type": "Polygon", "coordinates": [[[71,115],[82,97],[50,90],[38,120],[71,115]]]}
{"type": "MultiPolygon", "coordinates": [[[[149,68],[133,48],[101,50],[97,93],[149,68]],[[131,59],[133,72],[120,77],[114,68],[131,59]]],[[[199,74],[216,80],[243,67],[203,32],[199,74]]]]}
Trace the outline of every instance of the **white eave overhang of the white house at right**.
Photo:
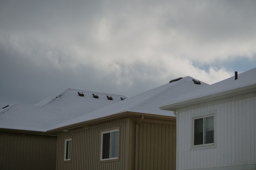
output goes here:
{"type": "Polygon", "coordinates": [[[229,91],[224,91],[224,92],[220,92],[220,93],[216,93],[216,94],[212,94],[212,95],[208,95],[208,96],[198,97],[198,98],[194,98],[191,100],[177,101],[177,102],[165,105],[165,106],[161,106],[159,108],[162,110],[176,111],[179,108],[184,108],[184,107],[189,107],[189,106],[193,106],[196,104],[201,104],[201,103],[206,103],[206,102],[210,102],[210,101],[239,96],[239,95],[243,95],[243,94],[247,94],[247,93],[251,93],[251,92],[255,92],[255,91],[256,91],[256,84],[229,90],[229,91]]]}

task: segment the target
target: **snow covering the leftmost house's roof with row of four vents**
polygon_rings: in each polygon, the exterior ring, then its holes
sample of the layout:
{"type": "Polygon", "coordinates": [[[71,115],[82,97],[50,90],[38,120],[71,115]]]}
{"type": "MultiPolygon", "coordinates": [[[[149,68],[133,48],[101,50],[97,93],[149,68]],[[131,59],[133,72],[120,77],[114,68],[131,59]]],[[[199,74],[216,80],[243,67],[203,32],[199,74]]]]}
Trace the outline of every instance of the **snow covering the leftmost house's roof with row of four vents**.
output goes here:
{"type": "Polygon", "coordinates": [[[35,105],[13,104],[0,110],[0,128],[46,132],[51,126],[121,101],[124,95],[66,89],[35,105]],[[84,97],[78,95],[84,94],[84,97]],[[93,98],[97,94],[99,98],[93,98]],[[106,96],[112,96],[108,100],[106,96]]]}

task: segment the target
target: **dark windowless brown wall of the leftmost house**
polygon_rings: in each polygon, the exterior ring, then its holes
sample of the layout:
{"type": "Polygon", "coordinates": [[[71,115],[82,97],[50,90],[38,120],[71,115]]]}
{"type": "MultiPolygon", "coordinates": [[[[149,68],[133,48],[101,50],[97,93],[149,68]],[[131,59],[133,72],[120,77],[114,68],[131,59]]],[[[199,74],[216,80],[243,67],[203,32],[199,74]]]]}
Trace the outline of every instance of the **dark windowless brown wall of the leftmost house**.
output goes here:
{"type": "Polygon", "coordinates": [[[55,169],[57,136],[0,132],[0,169],[55,169]]]}

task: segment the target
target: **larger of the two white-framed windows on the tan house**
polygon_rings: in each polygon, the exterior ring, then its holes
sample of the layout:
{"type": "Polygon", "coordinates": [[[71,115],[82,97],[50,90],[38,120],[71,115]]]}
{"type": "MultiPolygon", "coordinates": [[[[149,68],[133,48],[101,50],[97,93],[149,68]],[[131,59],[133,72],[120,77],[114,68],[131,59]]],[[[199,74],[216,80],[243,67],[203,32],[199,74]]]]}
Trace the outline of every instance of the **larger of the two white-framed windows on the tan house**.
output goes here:
{"type": "Polygon", "coordinates": [[[101,132],[100,160],[118,159],[118,132],[119,129],[101,132]]]}

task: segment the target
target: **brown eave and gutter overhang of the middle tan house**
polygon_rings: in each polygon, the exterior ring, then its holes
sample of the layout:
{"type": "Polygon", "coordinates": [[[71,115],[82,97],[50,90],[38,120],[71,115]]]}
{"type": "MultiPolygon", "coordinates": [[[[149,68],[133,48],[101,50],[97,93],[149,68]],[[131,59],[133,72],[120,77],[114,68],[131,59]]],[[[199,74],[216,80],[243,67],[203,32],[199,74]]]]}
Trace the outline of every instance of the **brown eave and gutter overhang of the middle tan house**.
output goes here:
{"type": "Polygon", "coordinates": [[[72,129],[77,129],[77,128],[81,128],[83,126],[89,126],[89,125],[93,125],[93,124],[99,124],[99,123],[105,123],[106,121],[111,121],[111,120],[118,120],[118,119],[123,119],[123,118],[127,118],[127,117],[137,117],[138,119],[141,119],[141,116],[144,116],[144,120],[145,119],[152,119],[152,120],[163,120],[163,121],[174,121],[176,123],[176,117],[175,116],[166,116],[166,115],[157,115],[157,114],[148,114],[148,113],[137,113],[137,112],[122,112],[122,113],[117,113],[117,114],[113,114],[113,115],[109,115],[109,116],[105,116],[105,117],[100,117],[98,119],[93,119],[93,120],[89,120],[89,121],[84,121],[84,122],[80,122],[80,123],[76,123],[76,124],[72,124],[72,125],[68,125],[68,126],[63,126],[63,127],[59,127],[59,128],[55,128],[55,129],[50,129],[47,130],[47,133],[58,133],[58,132],[62,132],[63,130],[68,129],[69,131],[72,129]]]}

